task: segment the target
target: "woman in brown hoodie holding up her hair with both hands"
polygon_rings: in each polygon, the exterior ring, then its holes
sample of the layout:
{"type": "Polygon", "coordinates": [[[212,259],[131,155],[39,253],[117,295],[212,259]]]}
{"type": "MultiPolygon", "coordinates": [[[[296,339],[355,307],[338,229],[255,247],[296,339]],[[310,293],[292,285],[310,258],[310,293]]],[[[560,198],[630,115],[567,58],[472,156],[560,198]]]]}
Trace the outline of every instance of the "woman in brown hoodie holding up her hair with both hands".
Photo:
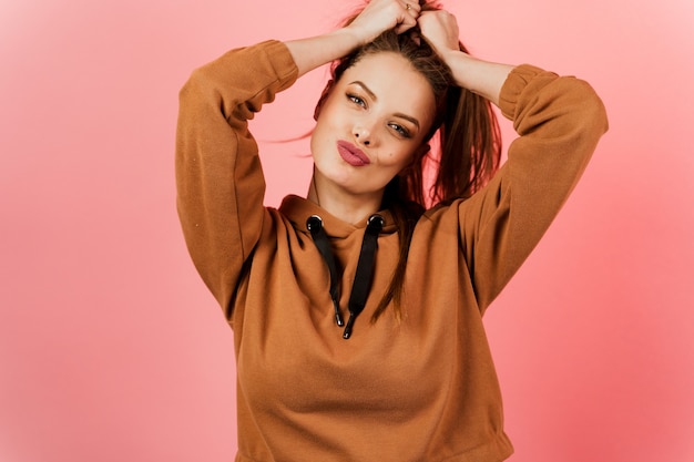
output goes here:
{"type": "Polygon", "coordinates": [[[237,461],[512,453],[481,318],[575,185],[606,117],[582,81],[462,50],[446,11],[372,0],[325,35],[233,50],[182,90],[178,209],[235,332],[237,461]],[[334,61],[307,198],[265,208],[247,121],[334,61]],[[520,134],[496,175],[489,102],[520,134]]]}

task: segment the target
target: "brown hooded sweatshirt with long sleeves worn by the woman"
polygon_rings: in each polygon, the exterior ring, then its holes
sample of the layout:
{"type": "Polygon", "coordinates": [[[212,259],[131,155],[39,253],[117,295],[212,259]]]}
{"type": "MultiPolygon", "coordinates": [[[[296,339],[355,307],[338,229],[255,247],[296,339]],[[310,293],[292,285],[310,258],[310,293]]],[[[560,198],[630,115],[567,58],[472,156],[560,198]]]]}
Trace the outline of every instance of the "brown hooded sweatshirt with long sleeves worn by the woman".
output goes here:
{"type": "Polygon", "coordinates": [[[367,219],[305,198],[265,207],[248,121],[297,69],[277,41],[193,72],[180,94],[178,214],[192,259],[234,330],[237,462],[498,462],[512,453],[482,315],[575,186],[608,122],[591,86],[520,65],[500,94],[519,137],[490,183],[427,211],[406,266],[401,318],[371,322],[398,261],[379,212],[370,289],[351,337],[307,227],[320,217],[348,316],[367,219]]]}

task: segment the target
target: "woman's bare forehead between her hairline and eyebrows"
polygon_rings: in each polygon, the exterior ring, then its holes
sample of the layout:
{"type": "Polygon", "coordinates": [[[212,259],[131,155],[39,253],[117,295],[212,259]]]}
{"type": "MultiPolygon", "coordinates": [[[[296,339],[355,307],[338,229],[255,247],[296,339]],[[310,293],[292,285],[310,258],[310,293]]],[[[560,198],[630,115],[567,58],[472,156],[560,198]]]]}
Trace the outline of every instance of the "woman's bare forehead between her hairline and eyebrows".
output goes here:
{"type": "Polygon", "coordinates": [[[380,52],[361,58],[341,75],[340,84],[353,82],[366,84],[379,101],[433,111],[431,85],[406,58],[397,53],[380,52]]]}

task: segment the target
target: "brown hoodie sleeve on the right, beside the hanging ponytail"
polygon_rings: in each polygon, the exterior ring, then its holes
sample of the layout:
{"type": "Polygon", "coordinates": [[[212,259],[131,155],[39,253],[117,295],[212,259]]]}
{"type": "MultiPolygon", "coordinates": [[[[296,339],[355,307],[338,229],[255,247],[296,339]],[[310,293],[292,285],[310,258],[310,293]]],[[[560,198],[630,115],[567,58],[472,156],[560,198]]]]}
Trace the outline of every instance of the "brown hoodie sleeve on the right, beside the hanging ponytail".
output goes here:
{"type": "Polygon", "coordinates": [[[520,135],[491,182],[458,208],[462,251],[482,311],[537,246],[608,130],[584,81],[516,68],[500,95],[520,135]]]}

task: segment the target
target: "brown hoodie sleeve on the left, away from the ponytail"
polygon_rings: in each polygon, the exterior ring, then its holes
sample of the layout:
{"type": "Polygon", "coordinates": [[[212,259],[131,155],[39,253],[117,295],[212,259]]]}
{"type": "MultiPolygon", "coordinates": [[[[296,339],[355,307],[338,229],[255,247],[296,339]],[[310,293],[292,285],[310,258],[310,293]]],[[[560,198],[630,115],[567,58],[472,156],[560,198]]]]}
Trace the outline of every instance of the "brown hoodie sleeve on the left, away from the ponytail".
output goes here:
{"type": "Polygon", "coordinates": [[[265,213],[265,179],[248,120],[296,76],[287,48],[268,41],[193,71],[180,93],[178,217],[193,263],[227,317],[265,213]]]}

